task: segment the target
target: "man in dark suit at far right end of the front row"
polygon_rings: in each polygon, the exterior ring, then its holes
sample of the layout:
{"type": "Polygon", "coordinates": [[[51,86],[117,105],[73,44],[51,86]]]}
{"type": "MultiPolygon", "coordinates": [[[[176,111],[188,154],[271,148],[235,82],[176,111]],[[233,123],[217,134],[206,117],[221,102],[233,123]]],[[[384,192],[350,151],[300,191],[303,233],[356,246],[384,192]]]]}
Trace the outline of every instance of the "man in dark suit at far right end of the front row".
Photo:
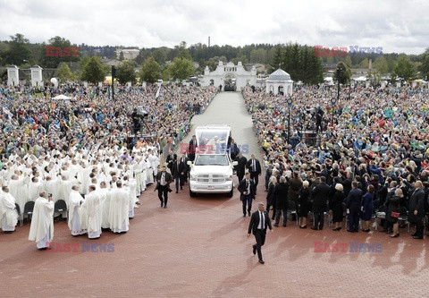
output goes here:
{"type": "Polygon", "coordinates": [[[417,180],[413,186],[406,179],[403,182],[408,185],[408,192],[411,193],[408,201],[408,221],[416,224],[416,233],[412,234],[412,236],[414,239],[423,239],[423,219],[425,218],[425,191],[423,190],[423,183],[417,180]]]}

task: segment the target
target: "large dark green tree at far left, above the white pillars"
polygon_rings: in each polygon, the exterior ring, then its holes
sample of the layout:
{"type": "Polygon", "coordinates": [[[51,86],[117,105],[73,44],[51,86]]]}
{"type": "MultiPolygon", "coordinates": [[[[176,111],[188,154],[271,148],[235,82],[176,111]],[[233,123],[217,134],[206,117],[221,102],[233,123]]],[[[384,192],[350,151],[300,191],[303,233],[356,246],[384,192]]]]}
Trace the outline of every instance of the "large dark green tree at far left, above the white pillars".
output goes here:
{"type": "Polygon", "coordinates": [[[16,33],[15,36],[11,36],[11,42],[9,50],[6,54],[6,64],[33,64],[33,55],[29,49],[29,39],[24,38],[20,33],[16,33]]]}

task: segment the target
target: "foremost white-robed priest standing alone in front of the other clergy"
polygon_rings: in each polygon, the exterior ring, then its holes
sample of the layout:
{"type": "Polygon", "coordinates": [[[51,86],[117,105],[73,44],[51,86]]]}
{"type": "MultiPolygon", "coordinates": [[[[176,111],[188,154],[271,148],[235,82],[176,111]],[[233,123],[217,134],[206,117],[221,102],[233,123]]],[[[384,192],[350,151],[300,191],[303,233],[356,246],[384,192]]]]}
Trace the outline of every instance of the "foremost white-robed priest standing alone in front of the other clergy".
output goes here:
{"type": "Polygon", "coordinates": [[[40,192],[33,209],[29,241],[35,241],[38,250],[48,248],[54,238],[54,201],[47,192],[40,192]]]}

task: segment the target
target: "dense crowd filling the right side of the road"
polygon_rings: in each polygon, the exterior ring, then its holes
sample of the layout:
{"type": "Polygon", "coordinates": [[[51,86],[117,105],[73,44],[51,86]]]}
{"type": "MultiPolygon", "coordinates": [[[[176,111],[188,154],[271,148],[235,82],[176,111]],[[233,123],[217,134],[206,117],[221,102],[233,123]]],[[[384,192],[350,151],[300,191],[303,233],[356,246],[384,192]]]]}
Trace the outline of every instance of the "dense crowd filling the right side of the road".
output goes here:
{"type": "Polygon", "coordinates": [[[336,89],[324,87],[304,87],[291,96],[250,88],[242,94],[265,152],[268,206],[275,210],[284,201],[286,209],[297,209],[302,228],[310,212],[312,228],[323,229],[324,215],[332,210],[335,231],[347,212],[349,232],[357,232],[359,217],[365,232],[380,217],[392,237],[408,221],[416,225],[413,237],[423,238],[429,211],[428,89],[357,86],[341,89],[334,106],[336,89]],[[278,194],[282,184],[285,195],[278,194]]]}

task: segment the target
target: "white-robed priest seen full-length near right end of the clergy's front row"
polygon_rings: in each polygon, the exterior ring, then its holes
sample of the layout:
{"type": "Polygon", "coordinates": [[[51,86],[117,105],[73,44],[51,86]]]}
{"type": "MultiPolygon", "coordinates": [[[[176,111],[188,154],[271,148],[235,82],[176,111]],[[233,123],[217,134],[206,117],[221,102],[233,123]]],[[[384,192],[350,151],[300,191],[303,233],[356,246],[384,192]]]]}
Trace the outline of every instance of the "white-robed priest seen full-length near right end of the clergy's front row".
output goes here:
{"type": "Polygon", "coordinates": [[[114,233],[128,232],[130,226],[130,198],[128,192],[122,188],[122,182],[116,183],[116,188],[111,190],[110,199],[110,229],[114,233]]]}

